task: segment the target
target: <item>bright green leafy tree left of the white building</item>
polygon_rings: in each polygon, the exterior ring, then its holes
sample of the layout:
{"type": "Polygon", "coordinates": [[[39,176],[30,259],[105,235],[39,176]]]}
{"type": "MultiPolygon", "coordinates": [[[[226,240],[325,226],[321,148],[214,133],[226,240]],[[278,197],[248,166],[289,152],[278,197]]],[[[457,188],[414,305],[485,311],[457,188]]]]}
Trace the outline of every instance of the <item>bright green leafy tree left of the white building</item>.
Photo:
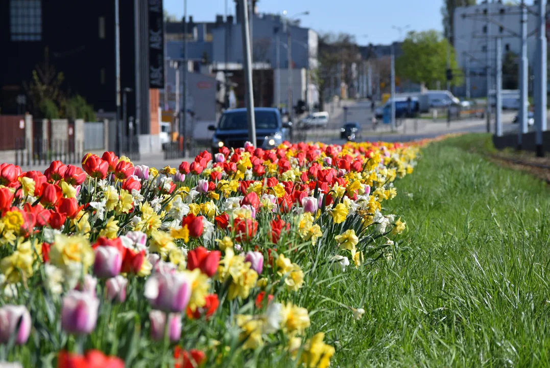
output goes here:
{"type": "Polygon", "coordinates": [[[436,30],[409,32],[401,46],[401,56],[395,61],[395,73],[412,83],[424,83],[435,88],[437,82],[445,84],[447,47],[450,47],[451,85],[462,84],[463,75],[456,62],[454,48],[436,30]]]}

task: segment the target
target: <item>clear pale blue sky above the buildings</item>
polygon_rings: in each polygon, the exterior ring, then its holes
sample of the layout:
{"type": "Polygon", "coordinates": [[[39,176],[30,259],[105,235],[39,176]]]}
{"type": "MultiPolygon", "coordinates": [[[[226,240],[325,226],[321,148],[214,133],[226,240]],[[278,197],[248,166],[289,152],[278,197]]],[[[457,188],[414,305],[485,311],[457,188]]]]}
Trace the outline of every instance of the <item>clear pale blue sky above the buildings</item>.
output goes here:
{"type": "MultiPolygon", "coordinates": [[[[214,21],[216,14],[235,14],[233,0],[187,0],[187,13],[193,21],[214,21]]],[[[443,0],[260,0],[259,13],[292,15],[309,11],[300,17],[301,25],[317,32],[345,32],[356,37],[359,45],[390,43],[405,37],[408,30],[443,30],[443,0]],[[393,26],[409,28],[401,35],[393,26]]],[[[183,0],[164,0],[164,9],[178,19],[183,17],[183,0]]]]}

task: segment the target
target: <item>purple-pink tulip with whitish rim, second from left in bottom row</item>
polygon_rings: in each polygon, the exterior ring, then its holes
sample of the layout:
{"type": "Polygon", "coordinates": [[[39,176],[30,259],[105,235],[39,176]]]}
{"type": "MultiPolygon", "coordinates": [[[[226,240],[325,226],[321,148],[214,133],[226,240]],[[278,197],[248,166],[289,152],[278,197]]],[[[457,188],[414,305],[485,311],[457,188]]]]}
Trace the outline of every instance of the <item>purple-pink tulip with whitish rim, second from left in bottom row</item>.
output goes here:
{"type": "Polygon", "coordinates": [[[96,327],[100,301],[89,293],[69,290],[63,298],[61,327],[68,333],[89,334],[96,327]]]}

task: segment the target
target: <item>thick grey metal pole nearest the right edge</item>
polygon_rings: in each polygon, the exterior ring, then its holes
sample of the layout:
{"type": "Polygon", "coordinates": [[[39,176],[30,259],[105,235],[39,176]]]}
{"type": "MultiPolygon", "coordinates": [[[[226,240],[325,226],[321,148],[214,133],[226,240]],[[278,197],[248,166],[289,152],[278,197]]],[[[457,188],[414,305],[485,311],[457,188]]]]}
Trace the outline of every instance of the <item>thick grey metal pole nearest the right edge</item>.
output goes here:
{"type": "Polygon", "coordinates": [[[546,0],[538,0],[538,37],[537,37],[537,58],[535,62],[535,145],[537,157],[544,156],[542,132],[546,131],[546,0]]]}

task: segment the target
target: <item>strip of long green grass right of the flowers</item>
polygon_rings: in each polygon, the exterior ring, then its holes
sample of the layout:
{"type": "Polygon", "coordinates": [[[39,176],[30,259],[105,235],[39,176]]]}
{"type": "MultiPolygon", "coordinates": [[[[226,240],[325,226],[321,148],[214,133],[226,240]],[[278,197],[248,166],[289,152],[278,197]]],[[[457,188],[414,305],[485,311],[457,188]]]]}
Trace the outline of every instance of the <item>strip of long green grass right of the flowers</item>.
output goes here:
{"type": "Polygon", "coordinates": [[[485,141],[422,150],[383,203],[408,227],[392,260],[303,298],[333,366],[550,366],[550,190],[464,150],[485,141]],[[355,321],[345,306],[366,313],[355,321]]]}

